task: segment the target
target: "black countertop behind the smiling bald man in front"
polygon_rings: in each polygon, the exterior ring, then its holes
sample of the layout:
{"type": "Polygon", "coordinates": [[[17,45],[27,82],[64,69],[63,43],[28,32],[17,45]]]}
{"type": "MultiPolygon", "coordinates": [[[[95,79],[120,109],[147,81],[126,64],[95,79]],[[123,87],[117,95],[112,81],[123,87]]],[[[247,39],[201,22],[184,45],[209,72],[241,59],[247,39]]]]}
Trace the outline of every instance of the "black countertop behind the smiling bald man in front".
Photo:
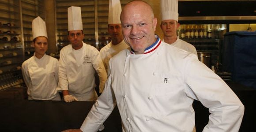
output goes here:
{"type": "MultiPolygon", "coordinates": [[[[256,90],[235,82],[226,82],[245,106],[240,132],[256,132],[256,90]]],[[[0,99],[0,132],[60,132],[80,128],[94,102],[0,99]]],[[[196,131],[208,123],[208,109],[194,101],[196,131]]],[[[104,123],[102,132],[122,132],[117,107],[104,123]]]]}

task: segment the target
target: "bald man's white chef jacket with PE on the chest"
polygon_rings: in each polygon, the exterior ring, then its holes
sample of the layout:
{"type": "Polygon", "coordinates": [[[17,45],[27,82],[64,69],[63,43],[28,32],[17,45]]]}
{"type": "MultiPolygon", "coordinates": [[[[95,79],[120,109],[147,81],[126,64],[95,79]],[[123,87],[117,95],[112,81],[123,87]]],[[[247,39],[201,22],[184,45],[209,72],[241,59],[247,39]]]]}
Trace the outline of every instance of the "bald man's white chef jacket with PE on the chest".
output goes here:
{"type": "Polygon", "coordinates": [[[196,55],[164,42],[143,55],[123,50],[80,129],[97,132],[117,104],[123,132],[192,132],[194,99],[211,113],[203,132],[238,132],[243,104],[196,55]]]}

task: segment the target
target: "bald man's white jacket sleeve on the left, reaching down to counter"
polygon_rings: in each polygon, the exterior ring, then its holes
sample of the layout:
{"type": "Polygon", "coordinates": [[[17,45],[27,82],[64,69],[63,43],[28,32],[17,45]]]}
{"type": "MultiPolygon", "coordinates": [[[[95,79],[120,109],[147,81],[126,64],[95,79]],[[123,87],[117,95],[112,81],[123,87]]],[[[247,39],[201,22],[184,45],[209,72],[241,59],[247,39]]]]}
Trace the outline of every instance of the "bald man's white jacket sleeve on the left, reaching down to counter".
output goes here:
{"type": "Polygon", "coordinates": [[[80,129],[83,132],[98,132],[98,130],[103,130],[103,123],[109,117],[116,104],[116,99],[111,88],[110,74],[102,95],[99,96],[98,100],[92,106],[80,129]]]}

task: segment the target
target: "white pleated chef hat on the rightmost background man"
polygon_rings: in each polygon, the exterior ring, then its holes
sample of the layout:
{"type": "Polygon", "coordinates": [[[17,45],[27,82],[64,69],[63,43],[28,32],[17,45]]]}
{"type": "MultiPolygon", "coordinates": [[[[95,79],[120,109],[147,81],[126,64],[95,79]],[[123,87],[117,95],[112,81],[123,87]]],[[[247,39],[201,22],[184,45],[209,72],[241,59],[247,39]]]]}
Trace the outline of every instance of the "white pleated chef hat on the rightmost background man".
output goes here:
{"type": "Polygon", "coordinates": [[[162,21],[176,20],[178,22],[178,0],[161,0],[162,21]]]}

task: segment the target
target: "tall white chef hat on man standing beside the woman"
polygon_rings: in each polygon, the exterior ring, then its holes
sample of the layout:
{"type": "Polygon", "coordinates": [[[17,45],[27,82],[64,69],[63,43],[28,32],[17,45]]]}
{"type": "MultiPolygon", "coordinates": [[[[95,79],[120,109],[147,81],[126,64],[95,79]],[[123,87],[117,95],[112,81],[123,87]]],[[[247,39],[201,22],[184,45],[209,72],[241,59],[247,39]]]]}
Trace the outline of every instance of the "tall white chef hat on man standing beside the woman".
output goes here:
{"type": "Polygon", "coordinates": [[[83,30],[81,7],[68,7],[68,31],[83,30]]]}

